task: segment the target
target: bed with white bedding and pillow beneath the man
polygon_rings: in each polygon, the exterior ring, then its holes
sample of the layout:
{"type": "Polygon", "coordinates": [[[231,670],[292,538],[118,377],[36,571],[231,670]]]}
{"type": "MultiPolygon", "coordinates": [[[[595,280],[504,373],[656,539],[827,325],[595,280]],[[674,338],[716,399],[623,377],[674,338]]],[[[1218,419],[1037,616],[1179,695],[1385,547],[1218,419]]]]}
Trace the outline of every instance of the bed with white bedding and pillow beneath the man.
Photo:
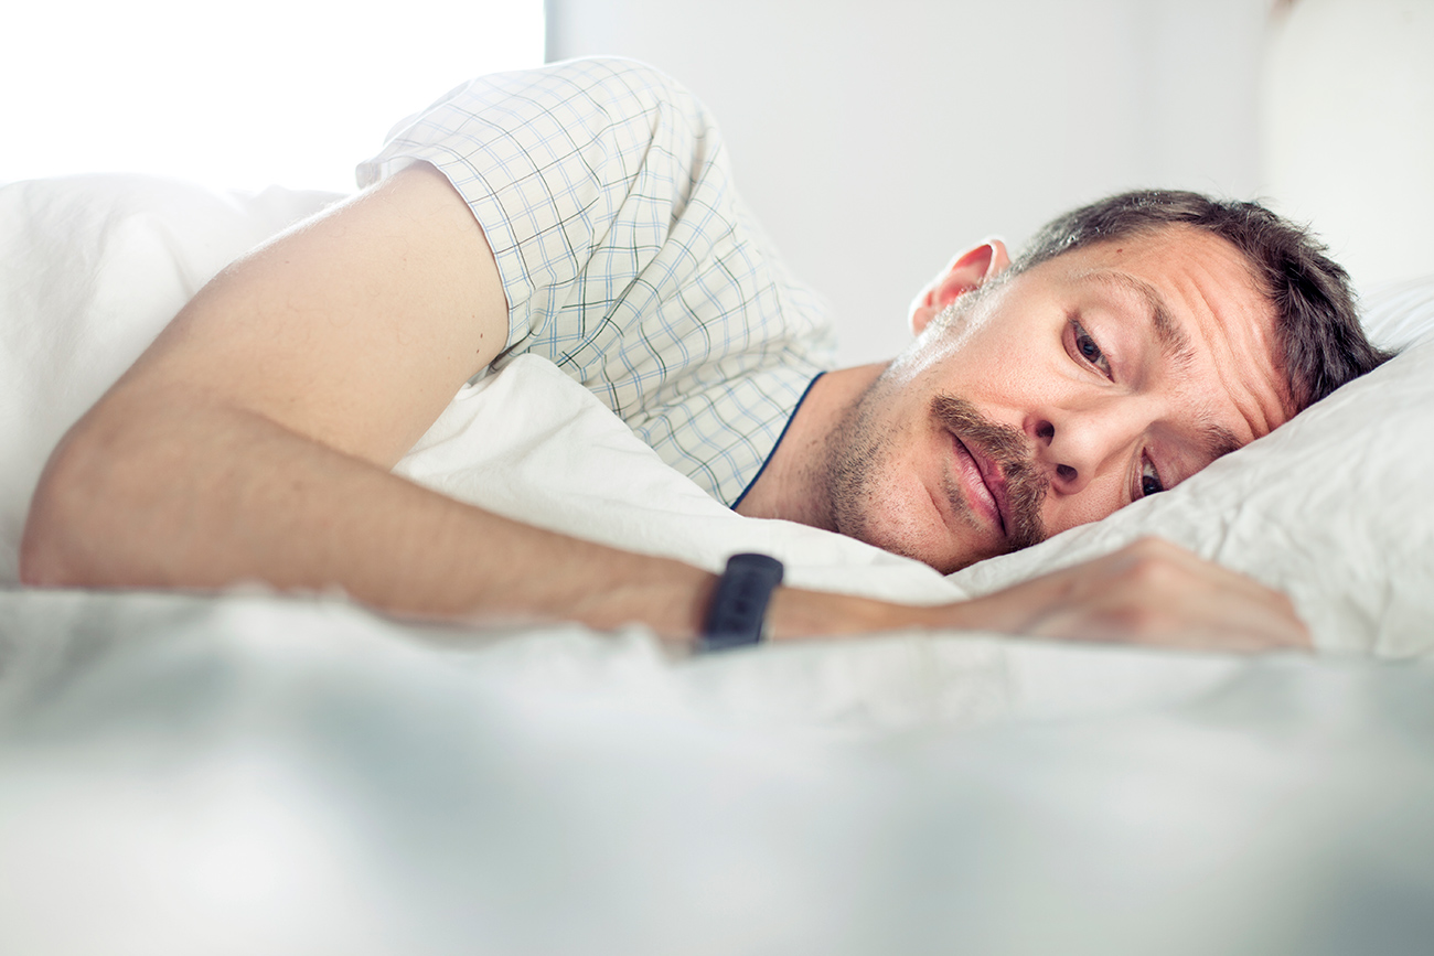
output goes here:
{"type": "Polygon", "coordinates": [[[538,358],[465,387],[397,467],[584,537],[710,569],[761,550],[793,583],[912,602],[1157,533],[1286,591],[1315,655],[901,632],[690,656],[260,585],[20,586],[65,429],[225,262],[336,199],[0,188],[0,950],[1427,952],[1434,275],[1364,290],[1402,350],[1380,371],[949,578],[731,513],[538,358]]]}

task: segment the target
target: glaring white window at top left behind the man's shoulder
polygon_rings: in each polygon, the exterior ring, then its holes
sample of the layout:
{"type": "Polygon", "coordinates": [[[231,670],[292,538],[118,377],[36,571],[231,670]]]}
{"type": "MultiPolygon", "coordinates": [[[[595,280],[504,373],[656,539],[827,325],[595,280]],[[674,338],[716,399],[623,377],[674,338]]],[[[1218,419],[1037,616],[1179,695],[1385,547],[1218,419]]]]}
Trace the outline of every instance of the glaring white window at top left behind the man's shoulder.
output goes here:
{"type": "Polygon", "coordinates": [[[347,192],[393,123],[470,76],[543,59],[542,0],[354,6],[14,4],[0,182],[145,172],[347,192]]]}

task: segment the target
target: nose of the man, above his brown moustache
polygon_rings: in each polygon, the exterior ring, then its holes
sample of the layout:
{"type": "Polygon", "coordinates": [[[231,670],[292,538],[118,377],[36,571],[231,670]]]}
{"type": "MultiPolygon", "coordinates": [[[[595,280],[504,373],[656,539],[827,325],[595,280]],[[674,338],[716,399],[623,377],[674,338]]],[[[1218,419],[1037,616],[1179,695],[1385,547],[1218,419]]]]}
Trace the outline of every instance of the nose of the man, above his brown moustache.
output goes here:
{"type": "Polygon", "coordinates": [[[1114,403],[1032,413],[1025,433],[1035,460],[1050,473],[1051,490],[1076,494],[1113,462],[1123,460],[1144,431],[1147,416],[1114,403]]]}

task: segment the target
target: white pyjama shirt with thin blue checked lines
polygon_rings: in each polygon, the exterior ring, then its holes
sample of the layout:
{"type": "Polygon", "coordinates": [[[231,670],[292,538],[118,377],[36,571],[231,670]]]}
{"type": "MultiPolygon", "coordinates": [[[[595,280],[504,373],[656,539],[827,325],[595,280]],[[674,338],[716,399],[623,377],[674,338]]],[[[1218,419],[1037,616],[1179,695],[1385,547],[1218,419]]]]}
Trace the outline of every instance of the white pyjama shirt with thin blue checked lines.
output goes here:
{"type": "Polygon", "coordinates": [[[509,333],[495,367],[549,358],[734,502],[833,337],[737,198],[701,103],[632,60],[499,73],[400,123],[358,183],[413,161],[452,181],[498,259],[509,333]]]}

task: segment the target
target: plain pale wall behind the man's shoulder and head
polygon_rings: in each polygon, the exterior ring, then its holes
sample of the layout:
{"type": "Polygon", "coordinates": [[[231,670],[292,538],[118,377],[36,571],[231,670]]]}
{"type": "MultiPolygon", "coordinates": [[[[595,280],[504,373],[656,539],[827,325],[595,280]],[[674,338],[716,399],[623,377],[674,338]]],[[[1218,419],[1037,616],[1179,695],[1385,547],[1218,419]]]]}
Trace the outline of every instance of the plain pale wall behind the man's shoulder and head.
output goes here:
{"type": "Polygon", "coordinates": [[[713,107],[737,182],[833,304],[906,341],[967,244],[1143,185],[1250,196],[1268,0],[548,0],[548,59],[634,56],[713,107]]]}

